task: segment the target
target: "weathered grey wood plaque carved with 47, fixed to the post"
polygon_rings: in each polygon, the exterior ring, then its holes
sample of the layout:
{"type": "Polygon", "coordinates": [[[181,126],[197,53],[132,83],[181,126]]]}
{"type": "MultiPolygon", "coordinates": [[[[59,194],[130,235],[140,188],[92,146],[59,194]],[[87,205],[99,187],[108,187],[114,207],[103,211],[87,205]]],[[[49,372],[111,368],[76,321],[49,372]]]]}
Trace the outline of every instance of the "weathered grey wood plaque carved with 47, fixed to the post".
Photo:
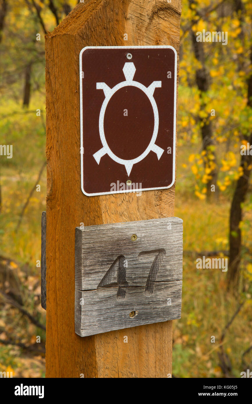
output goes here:
{"type": "Polygon", "coordinates": [[[180,318],[182,219],[76,227],[75,332],[180,318]]]}

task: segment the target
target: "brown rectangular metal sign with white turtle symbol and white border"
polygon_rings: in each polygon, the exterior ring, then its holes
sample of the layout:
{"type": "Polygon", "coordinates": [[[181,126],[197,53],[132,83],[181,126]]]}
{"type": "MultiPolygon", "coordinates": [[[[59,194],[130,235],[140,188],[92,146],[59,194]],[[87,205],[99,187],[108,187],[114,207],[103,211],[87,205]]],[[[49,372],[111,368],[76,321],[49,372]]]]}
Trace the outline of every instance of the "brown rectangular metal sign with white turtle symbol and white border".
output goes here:
{"type": "Polygon", "coordinates": [[[85,195],[169,188],[175,180],[177,54],[172,46],[80,52],[85,195]]]}

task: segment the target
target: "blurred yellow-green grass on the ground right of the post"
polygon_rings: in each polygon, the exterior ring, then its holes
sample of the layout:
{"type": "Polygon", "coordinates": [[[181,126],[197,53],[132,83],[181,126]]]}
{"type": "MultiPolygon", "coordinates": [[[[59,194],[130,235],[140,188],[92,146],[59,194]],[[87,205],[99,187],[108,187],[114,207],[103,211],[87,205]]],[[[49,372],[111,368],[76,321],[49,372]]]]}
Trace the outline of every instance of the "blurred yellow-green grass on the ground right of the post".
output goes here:
{"type": "MultiPolygon", "coordinates": [[[[173,374],[176,377],[224,376],[218,358],[220,337],[243,299],[246,303],[227,330],[223,343],[224,352],[231,361],[232,374],[240,377],[244,370],[241,357],[251,344],[251,291],[249,285],[245,284],[244,293],[233,297],[226,290],[227,272],[221,269],[196,269],[196,259],[200,258],[197,252],[228,250],[230,202],[222,195],[218,202],[209,204],[193,195],[192,182],[191,188],[188,188],[188,168],[182,168],[184,156],[188,154],[188,147],[185,151],[180,147],[175,216],[183,219],[185,253],[182,316],[174,321],[173,374]],[[188,195],[189,192],[191,195],[188,195]],[[213,336],[215,343],[211,342],[211,339],[214,341],[213,336]]],[[[251,231],[244,233],[243,237],[244,245],[249,248],[251,231]]],[[[248,364],[252,362],[251,352],[244,360],[248,364]]]]}

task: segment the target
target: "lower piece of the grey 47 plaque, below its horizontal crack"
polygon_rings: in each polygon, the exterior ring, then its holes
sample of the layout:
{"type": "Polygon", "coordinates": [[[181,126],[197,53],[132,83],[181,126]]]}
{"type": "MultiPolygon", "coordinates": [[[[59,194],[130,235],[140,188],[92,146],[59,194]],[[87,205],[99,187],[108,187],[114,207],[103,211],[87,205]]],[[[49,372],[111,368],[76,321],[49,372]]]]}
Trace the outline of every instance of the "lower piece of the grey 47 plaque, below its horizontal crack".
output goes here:
{"type": "Polygon", "coordinates": [[[116,299],[118,287],[75,290],[75,332],[81,337],[175,320],[181,316],[182,281],[155,282],[152,294],[145,287],[131,286],[123,299],[116,299]],[[171,305],[167,305],[167,299],[171,305]],[[82,303],[83,304],[80,304],[82,303]],[[130,317],[129,314],[137,312],[130,317]]]}

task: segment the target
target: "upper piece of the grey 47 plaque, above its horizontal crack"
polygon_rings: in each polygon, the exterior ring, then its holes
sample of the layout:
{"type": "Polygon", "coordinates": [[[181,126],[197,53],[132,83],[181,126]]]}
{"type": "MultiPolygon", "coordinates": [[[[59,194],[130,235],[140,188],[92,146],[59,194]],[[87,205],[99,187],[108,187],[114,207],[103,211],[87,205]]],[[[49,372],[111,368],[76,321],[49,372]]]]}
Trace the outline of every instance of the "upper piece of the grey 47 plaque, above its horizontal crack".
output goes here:
{"type": "Polygon", "coordinates": [[[164,250],[159,279],[182,279],[183,225],[178,217],[76,228],[75,287],[94,290],[120,255],[129,286],[145,286],[157,250],[164,250]],[[170,228],[169,228],[170,227],[170,228]],[[131,241],[136,234],[137,240],[131,241]]]}

